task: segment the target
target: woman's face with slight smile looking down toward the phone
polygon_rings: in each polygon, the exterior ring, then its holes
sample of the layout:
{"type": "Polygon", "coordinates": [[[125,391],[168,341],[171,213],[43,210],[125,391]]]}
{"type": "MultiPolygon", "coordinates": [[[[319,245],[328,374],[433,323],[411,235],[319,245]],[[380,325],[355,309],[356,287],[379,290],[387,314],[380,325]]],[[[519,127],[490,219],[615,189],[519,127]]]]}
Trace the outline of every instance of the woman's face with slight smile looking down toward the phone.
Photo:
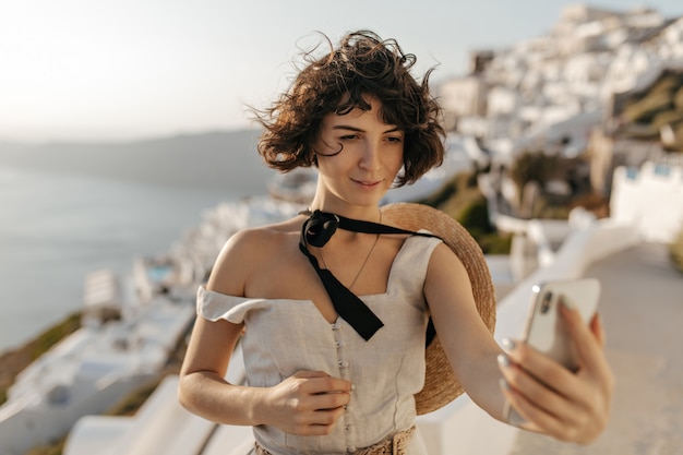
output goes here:
{"type": "Polygon", "coordinates": [[[323,118],[314,149],[326,203],[376,206],[403,166],[404,132],[384,123],[380,101],[369,100],[370,110],[323,118]]]}

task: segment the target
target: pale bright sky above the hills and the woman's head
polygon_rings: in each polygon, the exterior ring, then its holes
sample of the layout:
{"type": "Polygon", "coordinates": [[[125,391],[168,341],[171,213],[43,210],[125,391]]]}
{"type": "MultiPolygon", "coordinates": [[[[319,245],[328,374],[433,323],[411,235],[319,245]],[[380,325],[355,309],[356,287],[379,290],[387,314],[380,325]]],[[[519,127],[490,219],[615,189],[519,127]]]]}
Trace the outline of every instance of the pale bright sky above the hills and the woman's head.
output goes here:
{"type": "MultiPolygon", "coordinates": [[[[0,140],[128,141],[248,128],[300,48],[369,28],[463,75],[470,51],[543,35],[561,0],[0,0],[0,140]]],[[[681,0],[589,2],[683,15],[681,0]]]]}

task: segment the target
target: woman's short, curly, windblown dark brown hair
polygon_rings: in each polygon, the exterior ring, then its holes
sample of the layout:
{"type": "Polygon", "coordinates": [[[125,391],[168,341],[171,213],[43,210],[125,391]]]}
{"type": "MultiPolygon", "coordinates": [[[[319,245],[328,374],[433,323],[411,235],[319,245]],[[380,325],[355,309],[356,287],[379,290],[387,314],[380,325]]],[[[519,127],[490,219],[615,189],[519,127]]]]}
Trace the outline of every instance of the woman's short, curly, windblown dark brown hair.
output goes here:
{"type": "MultiPolygon", "coordinates": [[[[324,35],[323,35],[324,36],[324,35]]],[[[331,51],[314,58],[304,53],[303,68],[287,92],[268,109],[254,111],[265,128],[257,149],[265,163],[280,171],[315,164],[312,144],[327,113],[370,110],[368,97],[382,104],[380,118],[404,131],[404,167],[397,187],[414,183],[443,163],[445,132],[441,107],[429,91],[427,71],[422,83],[410,74],[416,62],[394,39],[381,39],[369,31],[346,34],[337,49],[324,36],[331,51]]]]}

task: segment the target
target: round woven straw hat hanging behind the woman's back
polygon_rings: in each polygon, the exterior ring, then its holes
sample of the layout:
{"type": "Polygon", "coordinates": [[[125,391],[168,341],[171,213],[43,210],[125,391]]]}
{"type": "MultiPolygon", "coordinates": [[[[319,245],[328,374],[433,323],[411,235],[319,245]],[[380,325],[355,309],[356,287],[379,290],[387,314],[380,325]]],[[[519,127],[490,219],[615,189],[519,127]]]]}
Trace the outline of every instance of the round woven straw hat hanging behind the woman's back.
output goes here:
{"type": "MultiPolygon", "coordinates": [[[[493,282],[481,248],[469,232],[458,221],[429,205],[400,202],[383,206],[382,213],[400,228],[427,229],[444,240],[465,265],[472,285],[477,310],[489,331],[493,333],[495,326],[493,282]]],[[[439,337],[427,347],[424,357],[427,360],[424,387],[415,396],[418,415],[436,410],[464,392],[455,379],[439,337]]]]}

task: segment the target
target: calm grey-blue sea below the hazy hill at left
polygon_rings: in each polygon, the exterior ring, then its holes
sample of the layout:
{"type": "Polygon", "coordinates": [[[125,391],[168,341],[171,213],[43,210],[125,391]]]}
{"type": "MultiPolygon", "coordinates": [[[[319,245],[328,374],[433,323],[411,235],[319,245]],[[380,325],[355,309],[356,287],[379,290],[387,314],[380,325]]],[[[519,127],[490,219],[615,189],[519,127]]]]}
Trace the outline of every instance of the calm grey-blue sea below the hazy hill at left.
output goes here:
{"type": "Polygon", "coordinates": [[[0,354],[80,310],[89,272],[130,273],[237,197],[0,166],[0,354]]]}

